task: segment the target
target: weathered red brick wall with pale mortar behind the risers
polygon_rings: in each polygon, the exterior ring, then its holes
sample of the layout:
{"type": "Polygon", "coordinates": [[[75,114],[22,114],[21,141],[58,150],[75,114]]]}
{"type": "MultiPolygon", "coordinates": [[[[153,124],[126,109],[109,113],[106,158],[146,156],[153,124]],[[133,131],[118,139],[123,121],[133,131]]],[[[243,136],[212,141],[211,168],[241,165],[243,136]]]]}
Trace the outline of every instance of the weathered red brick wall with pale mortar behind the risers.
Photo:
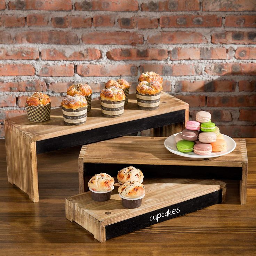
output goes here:
{"type": "Polygon", "coordinates": [[[99,96],[120,75],[163,76],[163,89],[212,113],[222,133],[252,137],[255,0],[0,0],[0,137],[33,91],[59,106],[67,86],[99,96]]]}

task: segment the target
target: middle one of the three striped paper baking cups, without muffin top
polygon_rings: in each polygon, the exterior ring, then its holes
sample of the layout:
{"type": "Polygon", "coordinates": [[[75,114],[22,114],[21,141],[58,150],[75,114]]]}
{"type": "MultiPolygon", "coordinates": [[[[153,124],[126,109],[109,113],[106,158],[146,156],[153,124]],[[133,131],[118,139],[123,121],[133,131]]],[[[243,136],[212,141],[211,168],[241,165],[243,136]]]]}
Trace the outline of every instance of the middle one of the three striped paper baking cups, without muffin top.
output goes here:
{"type": "Polygon", "coordinates": [[[101,113],[104,117],[119,117],[125,109],[125,101],[101,100],[101,113]]]}

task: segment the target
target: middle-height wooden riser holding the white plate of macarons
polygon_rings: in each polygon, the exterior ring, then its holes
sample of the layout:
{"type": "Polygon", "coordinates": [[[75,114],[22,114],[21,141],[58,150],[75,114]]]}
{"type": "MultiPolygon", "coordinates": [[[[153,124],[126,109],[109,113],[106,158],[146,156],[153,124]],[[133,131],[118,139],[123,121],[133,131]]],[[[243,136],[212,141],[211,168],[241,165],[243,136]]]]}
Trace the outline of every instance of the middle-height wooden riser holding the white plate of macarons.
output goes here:
{"type": "Polygon", "coordinates": [[[235,150],[218,158],[186,158],[169,152],[165,137],[125,136],[82,146],[79,155],[79,193],[88,190],[96,173],[117,176],[127,166],[145,177],[233,179],[240,182],[240,201],[246,204],[247,151],[245,139],[234,139],[235,150]]]}

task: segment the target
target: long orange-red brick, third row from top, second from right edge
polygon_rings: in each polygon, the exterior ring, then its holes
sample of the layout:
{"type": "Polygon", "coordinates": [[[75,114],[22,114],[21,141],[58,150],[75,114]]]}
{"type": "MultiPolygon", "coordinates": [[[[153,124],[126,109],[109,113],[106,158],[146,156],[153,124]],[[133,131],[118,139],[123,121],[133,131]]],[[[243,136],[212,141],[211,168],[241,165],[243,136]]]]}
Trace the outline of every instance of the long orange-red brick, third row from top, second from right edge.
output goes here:
{"type": "Polygon", "coordinates": [[[203,34],[198,32],[185,31],[165,31],[150,35],[148,43],[206,43],[207,40],[203,34]]]}

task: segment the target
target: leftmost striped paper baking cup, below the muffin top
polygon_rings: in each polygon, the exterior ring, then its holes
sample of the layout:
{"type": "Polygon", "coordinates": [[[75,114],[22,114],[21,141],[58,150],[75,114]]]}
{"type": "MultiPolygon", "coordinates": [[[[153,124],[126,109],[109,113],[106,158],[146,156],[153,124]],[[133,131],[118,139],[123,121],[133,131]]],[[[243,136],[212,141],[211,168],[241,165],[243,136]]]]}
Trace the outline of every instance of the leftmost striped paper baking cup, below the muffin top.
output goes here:
{"type": "Polygon", "coordinates": [[[66,125],[82,125],[86,122],[87,107],[80,107],[75,110],[62,107],[62,113],[66,125]]]}

